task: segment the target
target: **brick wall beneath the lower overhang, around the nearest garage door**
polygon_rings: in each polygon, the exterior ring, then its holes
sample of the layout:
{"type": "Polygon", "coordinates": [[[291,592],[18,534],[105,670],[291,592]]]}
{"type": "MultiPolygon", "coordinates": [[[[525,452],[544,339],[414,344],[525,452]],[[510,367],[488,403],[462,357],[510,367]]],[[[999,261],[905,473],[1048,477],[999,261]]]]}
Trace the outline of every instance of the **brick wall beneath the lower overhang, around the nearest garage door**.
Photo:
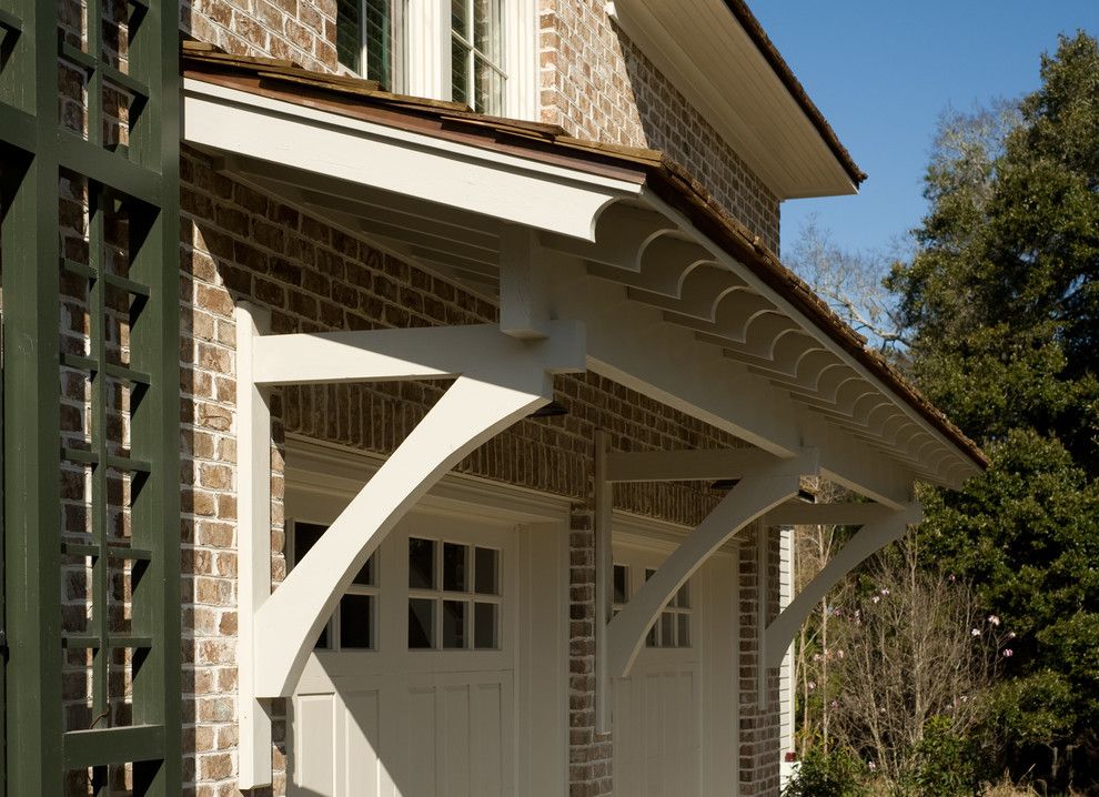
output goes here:
{"type": "MultiPolygon", "coordinates": [[[[216,174],[188,152],[182,162],[184,482],[184,683],[188,771],[198,797],[233,794],[236,746],[235,327],[234,301],[271,310],[275,333],[491,322],[496,309],[364,241],[216,174]]],[[[284,432],[389,453],[445,384],[285,389],[272,402],[284,432]],[[382,422],[379,422],[379,420],[382,422]]],[[[573,500],[569,634],[569,777],[574,794],[611,789],[611,740],[594,729],[594,448],[597,428],[617,450],[737,445],[705,424],[593,374],[558,376],[559,418],[520,422],[456,470],[573,500]]],[[[273,457],[272,576],[285,573],[282,457],[273,457]]],[[[689,484],[619,485],[617,506],[697,523],[714,505],[689,484]]],[[[278,734],[284,734],[283,723],[278,734]]],[[[276,751],[276,787],[285,783],[276,751]]]]}

